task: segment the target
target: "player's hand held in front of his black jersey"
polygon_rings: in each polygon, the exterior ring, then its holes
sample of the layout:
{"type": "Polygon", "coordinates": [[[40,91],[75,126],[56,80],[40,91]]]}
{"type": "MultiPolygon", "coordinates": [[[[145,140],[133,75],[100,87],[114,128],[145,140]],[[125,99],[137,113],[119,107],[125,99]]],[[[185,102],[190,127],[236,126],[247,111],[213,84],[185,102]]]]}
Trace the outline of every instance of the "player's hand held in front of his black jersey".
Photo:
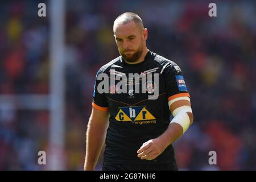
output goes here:
{"type": "Polygon", "coordinates": [[[138,158],[146,159],[146,160],[154,160],[157,156],[162,154],[162,152],[166,149],[168,145],[163,140],[163,138],[155,138],[148,140],[143,143],[141,148],[137,151],[138,158]]]}

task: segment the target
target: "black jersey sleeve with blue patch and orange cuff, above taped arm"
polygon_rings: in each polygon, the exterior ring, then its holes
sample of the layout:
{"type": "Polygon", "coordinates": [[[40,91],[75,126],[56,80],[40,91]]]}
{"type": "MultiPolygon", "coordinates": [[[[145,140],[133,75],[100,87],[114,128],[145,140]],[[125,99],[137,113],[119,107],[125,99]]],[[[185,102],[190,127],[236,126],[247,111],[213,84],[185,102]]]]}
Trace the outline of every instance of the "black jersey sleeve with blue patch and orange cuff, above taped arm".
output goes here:
{"type": "Polygon", "coordinates": [[[172,62],[164,69],[164,79],[167,86],[168,101],[177,97],[190,97],[180,67],[172,62]]]}

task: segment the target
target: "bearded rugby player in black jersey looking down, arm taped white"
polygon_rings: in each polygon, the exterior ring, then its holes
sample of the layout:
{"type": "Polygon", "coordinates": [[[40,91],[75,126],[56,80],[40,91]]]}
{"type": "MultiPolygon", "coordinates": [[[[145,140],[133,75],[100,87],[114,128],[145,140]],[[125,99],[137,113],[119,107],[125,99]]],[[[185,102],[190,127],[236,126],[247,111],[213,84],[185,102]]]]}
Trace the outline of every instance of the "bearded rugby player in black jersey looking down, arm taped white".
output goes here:
{"type": "Polygon", "coordinates": [[[101,67],[96,76],[84,169],[94,170],[105,142],[102,170],[177,170],[172,143],[193,122],[181,69],[147,48],[148,30],[137,14],[119,15],[113,31],[120,56],[101,67]],[[119,93],[116,85],[109,85],[110,92],[99,92],[101,74],[110,81],[113,75],[128,77],[129,73],[154,77],[144,84],[142,80],[123,80],[127,86],[141,84],[146,93],[119,93]],[[158,96],[149,99],[156,89],[158,96]]]}

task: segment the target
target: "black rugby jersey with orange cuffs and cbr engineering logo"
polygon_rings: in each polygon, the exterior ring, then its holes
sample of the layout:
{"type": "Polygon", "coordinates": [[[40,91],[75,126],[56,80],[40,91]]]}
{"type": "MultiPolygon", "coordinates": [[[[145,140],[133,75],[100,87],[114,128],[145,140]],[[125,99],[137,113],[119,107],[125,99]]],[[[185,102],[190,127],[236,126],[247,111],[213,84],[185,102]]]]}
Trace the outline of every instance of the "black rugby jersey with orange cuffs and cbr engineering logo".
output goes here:
{"type": "Polygon", "coordinates": [[[110,61],[100,68],[96,76],[93,93],[93,106],[96,109],[109,111],[109,127],[106,135],[104,163],[112,164],[148,164],[174,162],[174,149],[168,146],[155,160],[142,160],[137,157],[137,150],[149,139],[159,137],[170,124],[171,111],[168,101],[176,97],[189,96],[181,70],[177,64],[151,51],[147,52],[144,61],[138,64],[127,64],[122,56],[110,61]],[[109,85],[102,88],[109,92],[99,92],[103,78],[109,85]],[[151,75],[151,79],[131,80],[129,73],[151,75]],[[118,92],[118,82],[113,76],[126,76],[129,85],[140,85],[140,93],[127,88],[126,93],[118,92]],[[158,78],[158,84],[156,84],[158,78]],[[112,81],[111,81],[112,80],[112,81]],[[112,82],[112,83],[111,83],[112,82]],[[115,83],[113,85],[113,82],[115,83]],[[107,88],[108,87],[108,88],[107,88]],[[149,99],[158,89],[158,96],[149,99]],[[142,93],[146,90],[146,93],[142,93]]]}

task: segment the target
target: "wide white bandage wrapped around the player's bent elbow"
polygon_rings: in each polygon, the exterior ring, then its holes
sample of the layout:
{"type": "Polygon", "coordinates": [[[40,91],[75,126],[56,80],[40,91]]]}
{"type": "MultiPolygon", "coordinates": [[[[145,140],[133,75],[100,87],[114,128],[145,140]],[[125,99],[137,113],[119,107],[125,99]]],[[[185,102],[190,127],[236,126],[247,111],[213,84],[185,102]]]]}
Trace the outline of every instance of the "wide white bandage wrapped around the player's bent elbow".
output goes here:
{"type": "Polygon", "coordinates": [[[192,113],[190,106],[180,106],[172,112],[174,118],[172,119],[171,123],[178,123],[183,128],[183,134],[185,131],[187,131],[190,125],[190,119],[187,112],[192,113]]]}

